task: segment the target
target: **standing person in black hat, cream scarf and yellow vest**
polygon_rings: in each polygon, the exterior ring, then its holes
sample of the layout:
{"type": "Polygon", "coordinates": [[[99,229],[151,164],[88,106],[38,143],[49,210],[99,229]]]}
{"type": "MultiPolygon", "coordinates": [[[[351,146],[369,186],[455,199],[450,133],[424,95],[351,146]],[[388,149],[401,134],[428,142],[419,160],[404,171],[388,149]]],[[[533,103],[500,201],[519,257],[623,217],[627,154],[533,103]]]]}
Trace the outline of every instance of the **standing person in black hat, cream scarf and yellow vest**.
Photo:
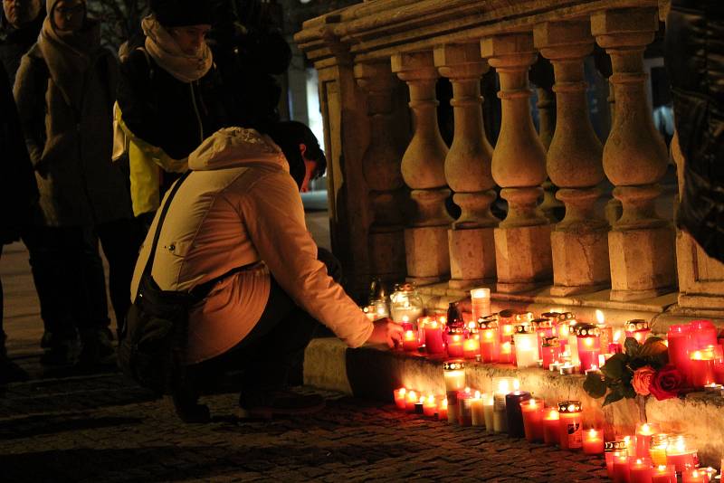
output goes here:
{"type": "Polygon", "coordinates": [[[225,125],[221,78],[205,42],[210,2],[151,0],[143,47],[121,63],[120,124],[130,138],[133,213],[145,230],[187,156],[225,125]]]}

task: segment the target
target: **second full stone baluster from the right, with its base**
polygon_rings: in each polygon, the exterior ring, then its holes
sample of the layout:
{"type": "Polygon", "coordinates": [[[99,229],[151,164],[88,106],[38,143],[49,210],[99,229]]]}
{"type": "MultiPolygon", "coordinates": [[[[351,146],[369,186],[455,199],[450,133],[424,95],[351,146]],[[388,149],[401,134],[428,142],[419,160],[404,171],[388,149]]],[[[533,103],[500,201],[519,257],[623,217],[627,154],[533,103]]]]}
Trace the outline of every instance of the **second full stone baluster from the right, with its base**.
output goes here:
{"type": "Polygon", "coordinates": [[[557,125],[548,148],[548,175],[566,204],[551,233],[552,295],[603,289],[611,279],[608,223],[595,213],[604,180],[602,147],[588,117],[584,59],[593,51],[588,22],[551,22],[534,30],[536,47],[556,75],[557,125]]]}

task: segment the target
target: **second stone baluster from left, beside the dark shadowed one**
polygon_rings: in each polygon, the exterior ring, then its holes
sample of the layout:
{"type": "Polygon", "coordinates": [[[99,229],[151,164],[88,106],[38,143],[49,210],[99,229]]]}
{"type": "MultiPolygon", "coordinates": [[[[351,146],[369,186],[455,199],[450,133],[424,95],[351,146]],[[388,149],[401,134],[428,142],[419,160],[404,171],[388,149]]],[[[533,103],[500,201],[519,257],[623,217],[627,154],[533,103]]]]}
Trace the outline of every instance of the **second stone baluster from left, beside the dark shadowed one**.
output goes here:
{"type": "Polygon", "coordinates": [[[450,273],[447,229],[452,222],[445,209],[450,190],[444,162],[448,148],[437,126],[433,52],[398,53],[392,70],[410,90],[414,135],[402,158],[402,175],[412,190],[405,228],[407,277],[418,284],[433,283],[450,273]]]}

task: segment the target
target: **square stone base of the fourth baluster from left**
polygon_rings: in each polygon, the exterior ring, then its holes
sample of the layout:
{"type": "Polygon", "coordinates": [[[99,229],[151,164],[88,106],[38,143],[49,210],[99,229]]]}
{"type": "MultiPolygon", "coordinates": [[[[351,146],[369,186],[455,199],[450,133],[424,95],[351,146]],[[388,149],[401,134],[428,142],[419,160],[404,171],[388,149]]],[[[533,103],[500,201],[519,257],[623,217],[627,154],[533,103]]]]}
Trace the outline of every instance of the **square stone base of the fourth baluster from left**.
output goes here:
{"type": "Polygon", "coordinates": [[[550,225],[495,229],[497,290],[503,293],[535,289],[550,282],[550,225]]]}

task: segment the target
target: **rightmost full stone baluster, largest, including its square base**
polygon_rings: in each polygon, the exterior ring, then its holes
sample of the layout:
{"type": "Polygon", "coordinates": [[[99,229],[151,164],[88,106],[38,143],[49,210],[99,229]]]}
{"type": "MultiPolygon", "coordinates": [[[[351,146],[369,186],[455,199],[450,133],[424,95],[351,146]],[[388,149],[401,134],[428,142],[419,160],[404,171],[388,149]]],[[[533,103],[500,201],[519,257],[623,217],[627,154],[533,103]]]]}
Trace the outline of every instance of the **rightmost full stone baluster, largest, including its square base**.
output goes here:
{"type": "Polygon", "coordinates": [[[605,175],[623,214],[608,234],[611,299],[652,298],[676,280],[674,232],[654,209],[667,153],[646,103],[643,50],[658,29],[656,8],[596,12],[591,31],[611,56],[615,117],[604,147],[605,175]]]}

